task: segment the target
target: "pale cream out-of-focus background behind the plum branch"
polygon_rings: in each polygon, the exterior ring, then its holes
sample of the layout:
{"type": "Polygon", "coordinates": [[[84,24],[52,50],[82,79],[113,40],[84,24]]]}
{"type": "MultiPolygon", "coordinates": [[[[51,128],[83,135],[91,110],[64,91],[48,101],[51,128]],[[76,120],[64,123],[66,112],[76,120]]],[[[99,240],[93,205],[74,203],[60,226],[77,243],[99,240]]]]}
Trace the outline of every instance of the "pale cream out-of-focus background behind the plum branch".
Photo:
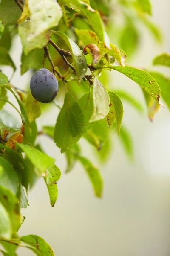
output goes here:
{"type": "MultiPolygon", "coordinates": [[[[135,67],[149,68],[156,55],[170,53],[170,1],[151,2],[153,22],[162,31],[163,44],[156,44],[147,29],[141,26],[140,47],[128,62],[135,67]]],[[[116,44],[112,31],[110,37],[116,44]]],[[[11,83],[25,88],[31,73],[28,71],[20,76],[21,53],[20,38],[15,37],[11,57],[17,72],[11,83]]],[[[10,68],[3,70],[10,76],[10,68]]],[[[168,69],[161,71],[169,75],[168,69]]],[[[129,91],[145,106],[137,84],[116,71],[108,71],[108,75],[109,87],[129,91]]],[[[5,108],[16,114],[8,105],[5,108]]],[[[98,161],[93,149],[81,139],[83,155],[100,167],[104,180],[102,199],[94,197],[91,183],[79,163],[65,174],[64,155],[48,137],[39,137],[45,152],[56,159],[62,171],[57,183],[59,196],[52,208],[43,179],[37,182],[28,195],[30,206],[22,210],[26,220],[19,230],[20,236],[42,236],[59,256],[170,255],[170,112],[161,108],[150,122],[146,107],[142,115],[124,102],[124,111],[123,123],[133,137],[134,161],[128,160],[116,136],[110,138],[114,150],[105,164],[98,161]]],[[[37,121],[38,127],[54,125],[57,114],[57,108],[45,112],[37,121]]],[[[33,253],[19,248],[18,254],[29,256],[33,253]]]]}

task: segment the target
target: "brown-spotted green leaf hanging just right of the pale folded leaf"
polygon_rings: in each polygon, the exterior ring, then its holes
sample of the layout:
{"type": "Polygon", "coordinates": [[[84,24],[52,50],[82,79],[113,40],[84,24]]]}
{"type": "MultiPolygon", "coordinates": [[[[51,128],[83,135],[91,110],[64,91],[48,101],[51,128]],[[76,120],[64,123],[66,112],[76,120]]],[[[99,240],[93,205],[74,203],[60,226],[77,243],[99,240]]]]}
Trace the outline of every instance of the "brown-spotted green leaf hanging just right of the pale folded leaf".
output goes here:
{"type": "Polygon", "coordinates": [[[108,127],[111,128],[113,123],[116,121],[117,126],[117,133],[119,135],[120,133],[120,126],[123,119],[123,104],[121,102],[121,99],[116,93],[113,93],[111,91],[108,91],[111,103],[110,103],[110,110],[107,114],[106,118],[108,121],[108,127]]]}

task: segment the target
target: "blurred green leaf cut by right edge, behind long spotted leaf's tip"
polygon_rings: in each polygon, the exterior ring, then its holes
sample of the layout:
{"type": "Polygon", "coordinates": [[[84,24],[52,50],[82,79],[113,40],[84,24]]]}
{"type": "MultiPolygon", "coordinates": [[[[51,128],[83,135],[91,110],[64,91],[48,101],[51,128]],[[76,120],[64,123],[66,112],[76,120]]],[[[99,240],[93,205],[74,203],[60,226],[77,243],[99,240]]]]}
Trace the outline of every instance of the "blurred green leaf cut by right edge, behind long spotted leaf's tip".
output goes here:
{"type": "Polygon", "coordinates": [[[170,79],[159,72],[151,71],[149,73],[159,84],[159,87],[161,88],[161,96],[170,109],[170,79]]]}

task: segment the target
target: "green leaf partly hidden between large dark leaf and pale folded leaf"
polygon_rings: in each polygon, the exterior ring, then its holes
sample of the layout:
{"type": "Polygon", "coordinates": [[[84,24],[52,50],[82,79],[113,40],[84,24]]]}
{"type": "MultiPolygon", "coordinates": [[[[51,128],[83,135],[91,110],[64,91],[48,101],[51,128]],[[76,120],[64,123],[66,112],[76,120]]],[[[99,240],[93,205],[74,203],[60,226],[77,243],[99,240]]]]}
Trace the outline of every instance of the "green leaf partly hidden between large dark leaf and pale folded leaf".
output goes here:
{"type": "Polygon", "coordinates": [[[86,131],[90,130],[94,125],[94,123],[89,123],[89,120],[94,110],[92,93],[85,93],[82,98],[79,99],[78,104],[81,108],[82,113],[84,113],[85,126],[83,133],[85,133],[86,131]]]}

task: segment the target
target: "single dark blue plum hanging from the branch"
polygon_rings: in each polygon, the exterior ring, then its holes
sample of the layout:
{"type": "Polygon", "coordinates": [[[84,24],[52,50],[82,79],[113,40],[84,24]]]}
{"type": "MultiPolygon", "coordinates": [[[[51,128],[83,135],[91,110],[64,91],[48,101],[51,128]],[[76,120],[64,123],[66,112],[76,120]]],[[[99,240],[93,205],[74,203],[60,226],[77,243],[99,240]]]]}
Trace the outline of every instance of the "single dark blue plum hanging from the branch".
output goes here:
{"type": "Polygon", "coordinates": [[[58,81],[46,68],[37,70],[31,77],[30,90],[34,99],[42,103],[53,101],[58,92],[58,81]]]}

